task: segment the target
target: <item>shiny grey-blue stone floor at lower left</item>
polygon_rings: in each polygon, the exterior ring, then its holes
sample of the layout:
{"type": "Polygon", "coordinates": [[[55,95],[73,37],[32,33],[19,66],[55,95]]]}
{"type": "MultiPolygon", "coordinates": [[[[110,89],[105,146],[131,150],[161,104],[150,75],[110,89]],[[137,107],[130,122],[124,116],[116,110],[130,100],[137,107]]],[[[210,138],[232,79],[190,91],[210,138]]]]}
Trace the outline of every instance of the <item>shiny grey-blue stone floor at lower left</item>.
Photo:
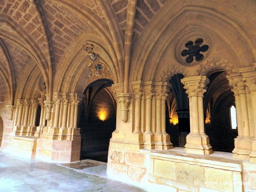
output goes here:
{"type": "Polygon", "coordinates": [[[0,151],[0,192],[144,192],[108,178],[106,163],[41,162],[0,151]]]}

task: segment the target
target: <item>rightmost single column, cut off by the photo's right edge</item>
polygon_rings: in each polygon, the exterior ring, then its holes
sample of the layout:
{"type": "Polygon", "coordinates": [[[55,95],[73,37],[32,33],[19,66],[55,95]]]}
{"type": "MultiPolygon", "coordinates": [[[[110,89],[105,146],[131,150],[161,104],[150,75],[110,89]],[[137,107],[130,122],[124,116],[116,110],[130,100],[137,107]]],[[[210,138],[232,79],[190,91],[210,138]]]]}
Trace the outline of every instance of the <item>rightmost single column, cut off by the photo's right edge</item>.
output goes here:
{"type": "Polygon", "coordinates": [[[249,154],[250,162],[256,162],[256,64],[252,67],[240,68],[246,87],[249,94],[247,94],[248,115],[251,116],[252,123],[250,126],[250,137],[252,151],[249,154]]]}

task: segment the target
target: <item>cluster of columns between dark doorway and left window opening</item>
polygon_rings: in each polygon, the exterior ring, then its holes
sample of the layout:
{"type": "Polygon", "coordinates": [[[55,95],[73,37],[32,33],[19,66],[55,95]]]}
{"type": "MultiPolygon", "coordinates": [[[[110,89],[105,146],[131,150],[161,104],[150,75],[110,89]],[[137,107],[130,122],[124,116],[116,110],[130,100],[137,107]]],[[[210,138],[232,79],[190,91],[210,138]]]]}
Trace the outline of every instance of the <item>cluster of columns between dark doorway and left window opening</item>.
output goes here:
{"type": "Polygon", "coordinates": [[[160,150],[172,148],[165,127],[166,92],[170,91],[170,84],[137,81],[132,83],[132,88],[134,100],[132,130],[133,134],[139,135],[140,147],[160,150]]]}

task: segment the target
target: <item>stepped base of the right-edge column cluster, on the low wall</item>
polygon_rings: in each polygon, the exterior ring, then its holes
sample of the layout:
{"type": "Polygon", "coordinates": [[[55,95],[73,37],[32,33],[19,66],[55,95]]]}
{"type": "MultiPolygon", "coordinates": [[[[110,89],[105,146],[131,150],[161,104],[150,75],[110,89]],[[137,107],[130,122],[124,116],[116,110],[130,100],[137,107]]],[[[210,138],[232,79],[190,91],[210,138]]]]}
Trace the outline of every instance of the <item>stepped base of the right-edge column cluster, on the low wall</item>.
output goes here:
{"type": "Polygon", "coordinates": [[[249,160],[252,153],[251,138],[239,136],[234,139],[234,144],[233,158],[249,160]]]}

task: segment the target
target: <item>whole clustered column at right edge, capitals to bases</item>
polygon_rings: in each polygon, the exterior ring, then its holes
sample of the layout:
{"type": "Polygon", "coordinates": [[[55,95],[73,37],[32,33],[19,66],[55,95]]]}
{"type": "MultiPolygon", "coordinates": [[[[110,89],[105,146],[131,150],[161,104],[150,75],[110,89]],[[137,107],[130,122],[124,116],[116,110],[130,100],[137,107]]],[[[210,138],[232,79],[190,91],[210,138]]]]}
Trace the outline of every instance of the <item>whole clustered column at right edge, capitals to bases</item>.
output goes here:
{"type": "Polygon", "coordinates": [[[256,162],[256,64],[227,78],[236,101],[238,136],[233,157],[256,162]]]}

